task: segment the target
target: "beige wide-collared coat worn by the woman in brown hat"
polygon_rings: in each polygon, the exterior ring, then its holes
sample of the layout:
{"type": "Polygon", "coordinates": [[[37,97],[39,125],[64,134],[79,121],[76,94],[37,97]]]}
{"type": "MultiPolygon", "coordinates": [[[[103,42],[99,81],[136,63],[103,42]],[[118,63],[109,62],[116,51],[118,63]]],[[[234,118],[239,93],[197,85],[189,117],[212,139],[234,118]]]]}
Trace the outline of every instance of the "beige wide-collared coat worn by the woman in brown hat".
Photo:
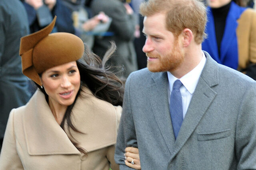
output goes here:
{"type": "MultiPolygon", "coordinates": [[[[72,123],[81,133],[71,134],[88,152],[81,154],[54,119],[44,94],[37,90],[30,101],[12,109],[0,170],[113,170],[114,144],[122,107],[100,100],[83,89],[72,109],[72,123]]],[[[64,126],[66,127],[66,125],[64,126]]],[[[68,135],[67,135],[68,134],[68,135]]]]}

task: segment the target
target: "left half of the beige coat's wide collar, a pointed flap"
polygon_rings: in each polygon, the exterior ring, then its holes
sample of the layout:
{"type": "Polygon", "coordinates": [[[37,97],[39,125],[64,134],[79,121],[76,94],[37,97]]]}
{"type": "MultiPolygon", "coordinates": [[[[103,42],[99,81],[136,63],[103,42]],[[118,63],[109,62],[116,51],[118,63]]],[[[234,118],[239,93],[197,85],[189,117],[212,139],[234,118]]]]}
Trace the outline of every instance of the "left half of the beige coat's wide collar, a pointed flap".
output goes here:
{"type": "Polygon", "coordinates": [[[80,154],[58,125],[44,94],[36,91],[26,107],[24,133],[30,155],[80,154]]]}

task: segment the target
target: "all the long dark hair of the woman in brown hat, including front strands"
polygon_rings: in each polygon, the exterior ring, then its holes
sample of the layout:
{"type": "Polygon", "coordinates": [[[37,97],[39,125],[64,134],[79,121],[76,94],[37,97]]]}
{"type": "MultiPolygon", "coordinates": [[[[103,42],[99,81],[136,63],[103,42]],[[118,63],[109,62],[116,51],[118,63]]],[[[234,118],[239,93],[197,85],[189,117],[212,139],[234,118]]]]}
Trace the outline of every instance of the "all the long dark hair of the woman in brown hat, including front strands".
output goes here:
{"type": "MultiPolygon", "coordinates": [[[[64,130],[64,123],[65,121],[67,122],[68,132],[70,134],[70,137],[68,138],[73,143],[73,145],[84,154],[87,154],[86,150],[78,146],[79,143],[70,133],[70,128],[78,133],[83,133],[76,129],[71,121],[72,108],[74,107],[77,98],[80,96],[80,92],[82,90],[81,87],[86,86],[92,91],[96,98],[109,102],[114,106],[122,106],[123,102],[124,80],[118,78],[118,76],[116,76],[116,74],[110,70],[114,68],[114,66],[106,66],[106,61],[116,50],[116,45],[114,43],[111,44],[112,45],[110,49],[106,52],[102,60],[100,59],[100,57],[86,49],[84,56],[76,61],[78,70],[80,72],[81,86],[78,90],[78,94],[76,95],[74,103],[68,106],[60,124],[60,127],[62,127],[62,129],[64,130]]],[[[116,70],[119,70],[119,67],[115,68],[116,70]]],[[[41,88],[41,86],[39,86],[38,84],[36,85],[44,93],[44,95],[46,96],[46,101],[48,102],[48,95],[46,94],[44,88],[41,88]]]]}

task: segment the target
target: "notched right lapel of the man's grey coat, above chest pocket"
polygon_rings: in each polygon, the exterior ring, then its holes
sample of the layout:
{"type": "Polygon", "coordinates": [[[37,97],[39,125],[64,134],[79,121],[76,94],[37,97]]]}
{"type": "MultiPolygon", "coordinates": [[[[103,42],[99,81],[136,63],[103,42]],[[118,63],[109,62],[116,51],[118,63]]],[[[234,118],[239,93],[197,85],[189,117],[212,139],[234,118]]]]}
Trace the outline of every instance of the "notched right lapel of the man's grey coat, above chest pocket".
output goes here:
{"type": "Polygon", "coordinates": [[[205,53],[205,55],[206,64],[199,78],[196,90],[192,96],[188,111],[180,128],[179,135],[174,144],[170,161],[180,151],[190,135],[192,135],[217,94],[212,90],[212,87],[218,84],[218,65],[208,53],[205,53]]]}

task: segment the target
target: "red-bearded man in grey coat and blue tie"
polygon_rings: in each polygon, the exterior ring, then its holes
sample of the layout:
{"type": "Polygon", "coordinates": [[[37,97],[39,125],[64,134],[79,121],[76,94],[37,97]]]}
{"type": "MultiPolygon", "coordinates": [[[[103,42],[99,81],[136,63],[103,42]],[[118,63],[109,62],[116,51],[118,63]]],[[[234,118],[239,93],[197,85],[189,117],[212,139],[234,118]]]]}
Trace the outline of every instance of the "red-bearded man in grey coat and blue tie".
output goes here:
{"type": "Polygon", "coordinates": [[[256,82],[201,50],[205,6],[149,0],[140,12],[148,68],[126,81],[120,169],[139,161],[126,146],[138,146],[145,170],[256,169],[256,82]]]}

